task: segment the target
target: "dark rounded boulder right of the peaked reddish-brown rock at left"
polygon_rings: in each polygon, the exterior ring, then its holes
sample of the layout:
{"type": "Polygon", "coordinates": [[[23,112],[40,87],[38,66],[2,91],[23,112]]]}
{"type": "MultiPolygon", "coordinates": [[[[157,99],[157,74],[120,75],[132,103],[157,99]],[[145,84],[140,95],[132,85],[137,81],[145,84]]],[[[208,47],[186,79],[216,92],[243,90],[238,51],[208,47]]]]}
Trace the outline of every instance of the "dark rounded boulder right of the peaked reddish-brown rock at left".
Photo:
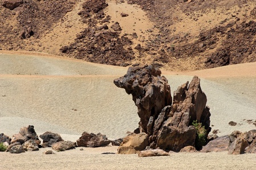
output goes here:
{"type": "Polygon", "coordinates": [[[53,143],[64,141],[59,134],[51,131],[47,131],[39,137],[43,139],[43,147],[51,147],[53,143]]]}

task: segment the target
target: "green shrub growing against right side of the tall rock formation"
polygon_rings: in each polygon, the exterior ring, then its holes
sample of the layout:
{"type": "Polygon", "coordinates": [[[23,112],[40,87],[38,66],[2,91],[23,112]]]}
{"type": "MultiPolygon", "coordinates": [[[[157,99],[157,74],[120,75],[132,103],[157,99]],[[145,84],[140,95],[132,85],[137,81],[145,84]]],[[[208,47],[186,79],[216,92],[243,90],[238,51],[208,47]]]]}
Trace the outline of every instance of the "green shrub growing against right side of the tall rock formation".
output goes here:
{"type": "Polygon", "coordinates": [[[201,150],[207,144],[207,130],[197,120],[193,121],[192,125],[196,128],[196,149],[201,150]]]}

